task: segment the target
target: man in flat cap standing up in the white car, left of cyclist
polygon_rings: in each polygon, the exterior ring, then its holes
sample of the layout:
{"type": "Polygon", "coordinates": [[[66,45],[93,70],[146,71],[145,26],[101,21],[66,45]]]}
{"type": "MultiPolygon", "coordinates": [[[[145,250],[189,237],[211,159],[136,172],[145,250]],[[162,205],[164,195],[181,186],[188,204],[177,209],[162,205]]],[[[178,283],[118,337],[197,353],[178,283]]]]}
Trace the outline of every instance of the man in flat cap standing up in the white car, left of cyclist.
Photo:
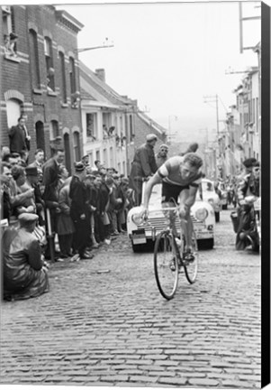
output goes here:
{"type": "Polygon", "coordinates": [[[153,150],[157,140],[156,135],[147,135],[146,143],[140,145],[134,154],[129,175],[129,187],[134,190],[135,206],[139,206],[141,203],[143,180],[149,179],[158,170],[153,150]]]}

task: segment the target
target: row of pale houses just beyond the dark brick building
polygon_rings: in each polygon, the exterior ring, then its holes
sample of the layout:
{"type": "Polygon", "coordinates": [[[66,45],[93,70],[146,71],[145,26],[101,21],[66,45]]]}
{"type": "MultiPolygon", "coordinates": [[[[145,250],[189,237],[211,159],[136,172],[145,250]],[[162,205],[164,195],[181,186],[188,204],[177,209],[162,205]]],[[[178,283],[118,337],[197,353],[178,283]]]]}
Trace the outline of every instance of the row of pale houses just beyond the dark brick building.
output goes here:
{"type": "Polygon", "coordinates": [[[81,120],[84,154],[94,166],[100,160],[107,168],[129,175],[135,148],[146,135],[166,142],[166,130],[140,113],[137,100],[121,96],[105,82],[104,69],[89,70],[80,61],[81,120]]]}

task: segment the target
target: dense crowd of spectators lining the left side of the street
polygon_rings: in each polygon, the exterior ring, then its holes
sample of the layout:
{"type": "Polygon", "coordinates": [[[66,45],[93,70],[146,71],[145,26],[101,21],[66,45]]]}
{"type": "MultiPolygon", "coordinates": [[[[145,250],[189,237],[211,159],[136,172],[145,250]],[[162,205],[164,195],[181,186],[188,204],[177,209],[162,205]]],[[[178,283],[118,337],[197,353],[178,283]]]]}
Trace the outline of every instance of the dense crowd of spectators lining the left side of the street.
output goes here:
{"type": "Polygon", "coordinates": [[[25,299],[49,291],[45,275],[50,262],[91,259],[94,248],[111,245],[126,231],[133,191],[128,178],[114,168],[99,161],[91,167],[84,156],[74,163],[75,172],[70,175],[63,150],[56,150],[46,162],[41,149],[30,163],[6,147],[1,157],[5,299],[25,299]],[[32,247],[35,256],[30,255],[32,247]],[[17,268],[20,272],[14,275],[17,268]]]}

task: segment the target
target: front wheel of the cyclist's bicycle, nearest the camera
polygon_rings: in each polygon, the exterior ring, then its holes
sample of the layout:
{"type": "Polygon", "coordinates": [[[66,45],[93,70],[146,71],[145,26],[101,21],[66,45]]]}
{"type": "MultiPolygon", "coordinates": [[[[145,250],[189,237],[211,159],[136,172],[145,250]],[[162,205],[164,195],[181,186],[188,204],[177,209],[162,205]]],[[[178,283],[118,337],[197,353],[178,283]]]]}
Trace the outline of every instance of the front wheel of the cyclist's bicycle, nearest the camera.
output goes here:
{"type": "Polygon", "coordinates": [[[171,300],[178,283],[178,262],[176,241],[171,233],[161,232],[154,246],[154,271],[158,290],[167,300],[171,300]]]}

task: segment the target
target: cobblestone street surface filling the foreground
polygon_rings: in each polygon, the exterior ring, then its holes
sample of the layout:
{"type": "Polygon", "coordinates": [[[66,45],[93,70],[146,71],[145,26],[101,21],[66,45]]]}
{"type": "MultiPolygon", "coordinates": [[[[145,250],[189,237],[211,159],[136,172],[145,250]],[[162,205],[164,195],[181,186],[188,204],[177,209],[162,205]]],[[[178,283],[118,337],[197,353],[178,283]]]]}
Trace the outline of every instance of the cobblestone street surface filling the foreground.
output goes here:
{"type": "Polygon", "coordinates": [[[52,265],[49,293],[2,304],[0,383],[260,388],[260,256],[235,251],[230,210],[216,230],[170,302],[126,236],[52,265]]]}

